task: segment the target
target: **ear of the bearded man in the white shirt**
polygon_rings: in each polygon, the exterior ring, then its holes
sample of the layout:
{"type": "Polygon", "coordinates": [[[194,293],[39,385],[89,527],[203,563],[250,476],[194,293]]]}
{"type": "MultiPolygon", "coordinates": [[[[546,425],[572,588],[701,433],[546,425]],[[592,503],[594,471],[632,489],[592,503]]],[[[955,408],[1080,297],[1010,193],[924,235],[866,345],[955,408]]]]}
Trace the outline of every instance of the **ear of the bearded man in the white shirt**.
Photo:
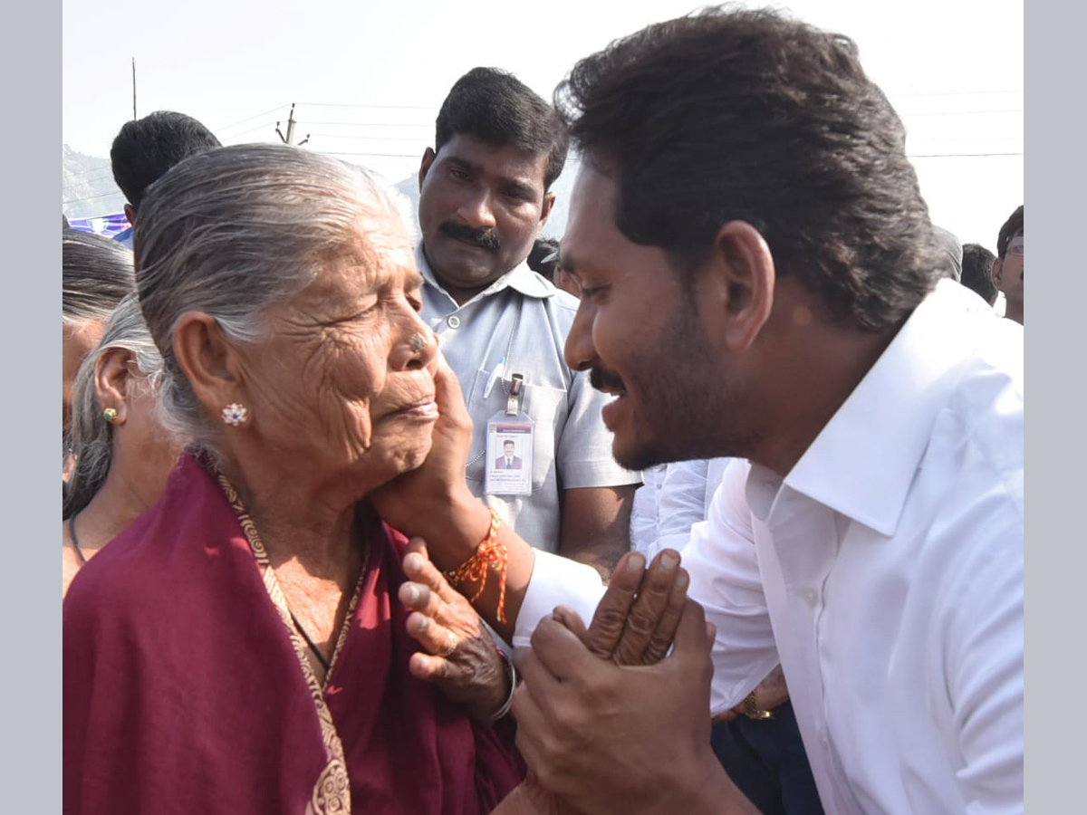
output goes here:
{"type": "Polygon", "coordinates": [[[745,221],[723,224],[707,263],[726,347],[749,348],[774,305],[774,258],[765,239],[745,221]]]}

